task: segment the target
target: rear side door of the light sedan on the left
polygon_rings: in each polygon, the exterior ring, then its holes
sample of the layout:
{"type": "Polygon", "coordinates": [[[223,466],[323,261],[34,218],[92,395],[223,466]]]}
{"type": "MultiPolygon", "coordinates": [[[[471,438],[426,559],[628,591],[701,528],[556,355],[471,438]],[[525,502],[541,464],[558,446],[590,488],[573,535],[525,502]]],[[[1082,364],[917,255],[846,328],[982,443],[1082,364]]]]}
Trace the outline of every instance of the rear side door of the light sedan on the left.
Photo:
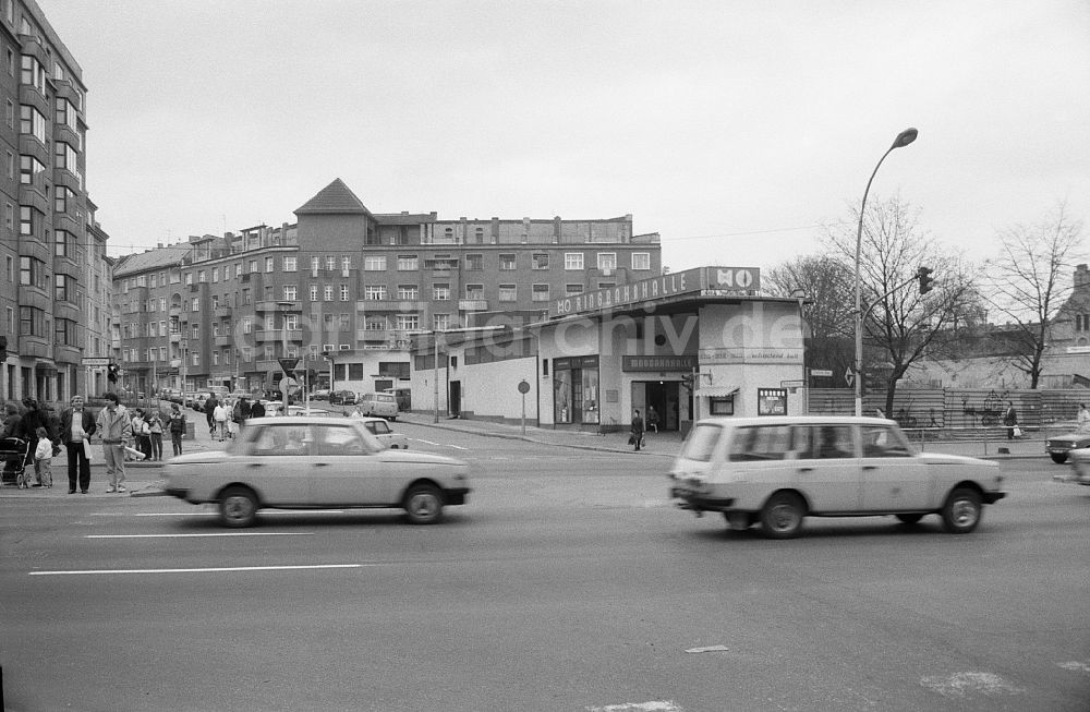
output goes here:
{"type": "Polygon", "coordinates": [[[310,504],[306,426],[278,423],[243,432],[249,439],[242,444],[238,458],[240,481],[251,484],[270,506],[310,504]]]}

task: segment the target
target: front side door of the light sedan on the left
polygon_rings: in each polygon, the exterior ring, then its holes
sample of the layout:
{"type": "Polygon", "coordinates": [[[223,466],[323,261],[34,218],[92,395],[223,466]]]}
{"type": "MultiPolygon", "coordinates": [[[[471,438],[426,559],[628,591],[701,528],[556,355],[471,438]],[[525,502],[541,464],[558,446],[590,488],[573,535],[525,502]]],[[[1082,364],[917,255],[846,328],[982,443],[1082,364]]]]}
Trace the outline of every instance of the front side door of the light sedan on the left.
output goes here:
{"type": "Polygon", "coordinates": [[[373,441],[365,441],[352,423],[310,427],[314,434],[312,504],[347,507],[387,502],[388,485],[373,441]]]}

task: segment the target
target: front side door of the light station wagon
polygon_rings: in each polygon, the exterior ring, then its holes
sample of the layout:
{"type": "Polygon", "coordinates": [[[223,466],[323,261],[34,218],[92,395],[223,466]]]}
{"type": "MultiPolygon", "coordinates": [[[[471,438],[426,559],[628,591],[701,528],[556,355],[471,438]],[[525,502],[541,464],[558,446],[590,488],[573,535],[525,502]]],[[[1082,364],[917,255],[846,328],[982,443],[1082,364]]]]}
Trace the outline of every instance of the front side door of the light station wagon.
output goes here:
{"type": "Polygon", "coordinates": [[[928,463],[916,457],[905,434],[893,425],[861,427],[863,445],[863,509],[910,511],[927,509],[933,481],[928,463]]]}

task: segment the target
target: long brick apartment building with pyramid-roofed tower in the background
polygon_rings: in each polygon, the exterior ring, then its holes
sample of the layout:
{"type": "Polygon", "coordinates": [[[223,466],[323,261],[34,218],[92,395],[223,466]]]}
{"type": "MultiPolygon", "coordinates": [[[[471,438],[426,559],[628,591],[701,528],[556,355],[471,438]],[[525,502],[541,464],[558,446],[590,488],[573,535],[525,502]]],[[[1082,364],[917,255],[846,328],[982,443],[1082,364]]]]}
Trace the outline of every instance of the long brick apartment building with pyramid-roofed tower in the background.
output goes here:
{"type": "Polygon", "coordinates": [[[633,234],[631,215],[372,213],[339,179],[294,215],[118,262],[125,387],[269,388],[281,358],[325,387],[405,385],[417,334],[526,324],[557,297],[662,271],[658,234],[633,234]]]}

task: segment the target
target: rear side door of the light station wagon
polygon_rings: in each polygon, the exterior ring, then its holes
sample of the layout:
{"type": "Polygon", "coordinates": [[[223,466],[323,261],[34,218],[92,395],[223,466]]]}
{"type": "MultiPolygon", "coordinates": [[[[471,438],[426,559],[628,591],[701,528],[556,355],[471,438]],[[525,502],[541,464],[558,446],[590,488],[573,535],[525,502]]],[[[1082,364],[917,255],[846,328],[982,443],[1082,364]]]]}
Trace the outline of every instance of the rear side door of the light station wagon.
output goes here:
{"type": "Polygon", "coordinates": [[[858,511],[862,503],[856,429],[846,424],[795,426],[796,486],[815,512],[858,511]]]}

